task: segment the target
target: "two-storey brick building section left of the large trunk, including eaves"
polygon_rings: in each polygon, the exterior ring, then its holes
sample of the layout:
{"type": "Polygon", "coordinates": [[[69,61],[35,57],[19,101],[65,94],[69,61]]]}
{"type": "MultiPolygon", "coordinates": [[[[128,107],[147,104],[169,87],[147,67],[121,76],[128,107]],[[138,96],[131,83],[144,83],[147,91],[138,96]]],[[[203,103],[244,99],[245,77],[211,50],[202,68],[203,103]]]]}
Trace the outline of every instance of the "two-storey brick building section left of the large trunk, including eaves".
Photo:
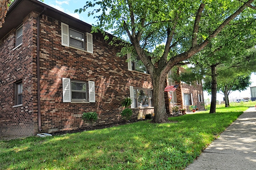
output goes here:
{"type": "Polygon", "coordinates": [[[126,97],[134,117],[153,114],[150,75],[91,27],[37,0],[12,3],[0,28],[0,136],[85,127],[89,111],[117,122],[126,97]]]}

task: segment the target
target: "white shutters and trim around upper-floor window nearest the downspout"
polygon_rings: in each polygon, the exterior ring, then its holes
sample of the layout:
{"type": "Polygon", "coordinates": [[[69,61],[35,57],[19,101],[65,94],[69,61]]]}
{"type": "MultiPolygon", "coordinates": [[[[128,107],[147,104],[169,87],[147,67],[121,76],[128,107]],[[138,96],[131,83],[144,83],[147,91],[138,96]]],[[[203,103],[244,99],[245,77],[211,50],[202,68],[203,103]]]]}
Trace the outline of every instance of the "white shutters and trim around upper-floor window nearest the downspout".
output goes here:
{"type": "MultiPolygon", "coordinates": [[[[79,32],[75,29],[73,29],[73,30],[76,32],[79,32]]],[[[83,32],[80,32],[80,33],[84,34],[83,32]]],[[[86,51],[86,52],[93,54],[93,36],[92,36],[92,34],[90,34],[89,32],[86,32],[86,50],[85,50],[85,44],[84,44],[84,49],[72,46],[72,45],[70,45],[70,42],[69,42],[69,26],[68,26],[68,24],[64,24],[64,23],[61,23],[61,45],[66,46],[66,47],[72,47],[77,50],[86,51]],[[92,49],[91,51],[88,50],[90,48],[92,49]]]]}

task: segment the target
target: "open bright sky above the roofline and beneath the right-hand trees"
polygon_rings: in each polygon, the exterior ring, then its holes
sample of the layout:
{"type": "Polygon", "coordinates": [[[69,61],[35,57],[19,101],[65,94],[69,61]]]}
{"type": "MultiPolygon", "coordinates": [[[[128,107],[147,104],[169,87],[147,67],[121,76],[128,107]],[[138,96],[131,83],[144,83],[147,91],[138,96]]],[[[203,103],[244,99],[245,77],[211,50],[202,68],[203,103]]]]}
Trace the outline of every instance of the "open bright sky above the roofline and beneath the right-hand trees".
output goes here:
{"type": "MultiPolygon", "coordinates": [[[[96,24],[96,20],[93,19],[93,16],[88,17],[88,12],[82,12],[79,14],[78,12],[74,13],[76,9],[84,7],[86,1],[85,0],[44,0],[45,4],[48,4],[49,6],[56,8],[62,12],[65,12],[66,14],[73,16],[79,20],[82,20],[88,24],[96,24]]],[[[90,9],[88,9],[90,11],[90,9]]],[[[250,87],[256,87],[256,75],[251,75],[251,86],[250,87]]],[[[245,91],[233,91],[229,95],[229,99],[241,99],[246,97],[251,97],[250,87],[247,88],[245,91]]],[[[224,95],[217,94],[217,100],[223,101],[224,95]]],[[[211,96],[208,95],[206,92],[204,92],[204,99],[211,99],[211,96]]]]}

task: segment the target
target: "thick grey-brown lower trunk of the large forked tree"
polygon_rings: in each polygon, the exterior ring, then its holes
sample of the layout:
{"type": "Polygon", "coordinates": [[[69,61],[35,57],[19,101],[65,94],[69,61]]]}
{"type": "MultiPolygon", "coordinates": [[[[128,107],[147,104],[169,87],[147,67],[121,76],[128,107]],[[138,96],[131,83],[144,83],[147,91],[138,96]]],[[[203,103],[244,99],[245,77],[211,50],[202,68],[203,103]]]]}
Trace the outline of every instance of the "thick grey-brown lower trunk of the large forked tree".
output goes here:
{"type": "Polygon", "coordinates": [[[164,102],[164,83],[166,81],[166,77],[153,74],[152,76],[153,83],[153,97],[154,97],[154,112],[155,116],[153,119],[154,123],[166,123],[168,121],[165,102],[164,102]]]}

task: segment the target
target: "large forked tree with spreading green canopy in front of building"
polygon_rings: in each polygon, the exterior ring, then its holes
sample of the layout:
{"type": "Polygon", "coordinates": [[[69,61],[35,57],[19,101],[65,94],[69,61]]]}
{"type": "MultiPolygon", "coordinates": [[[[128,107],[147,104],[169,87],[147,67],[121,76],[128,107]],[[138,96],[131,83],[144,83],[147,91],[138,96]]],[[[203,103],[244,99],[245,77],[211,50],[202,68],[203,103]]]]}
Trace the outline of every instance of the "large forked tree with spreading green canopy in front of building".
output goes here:
{"type": "Polygon", "coordinates": [[[87,2],[84,8],[75,12],[99,6],[88,12],[88,16],[99,14],[94,16],[98,23],[92,32],[113,29],[115,36],[127,35],[127,41],[152,78],[153,122],[165,123],[168,117],[164,82],[168,71],[201,51],[233,19],[239,20],[241,12],[252,12],[253,5],[254,0],[101,0],[87,2]],[[163,43],[164,51],[154,55],[154,49],[163,43]],[[155,58],[156,63],[152,63],[155,58]]]}

